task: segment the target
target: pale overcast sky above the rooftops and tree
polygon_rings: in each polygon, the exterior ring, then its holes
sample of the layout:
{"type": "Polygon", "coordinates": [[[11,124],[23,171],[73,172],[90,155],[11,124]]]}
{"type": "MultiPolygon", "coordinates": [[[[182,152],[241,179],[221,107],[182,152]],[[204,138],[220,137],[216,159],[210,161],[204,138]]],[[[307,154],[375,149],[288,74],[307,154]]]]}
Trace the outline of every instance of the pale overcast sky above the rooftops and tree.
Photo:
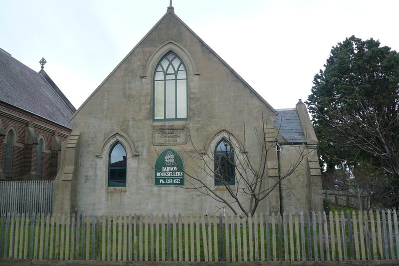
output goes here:
{"type": "MultiPolygon", "coordinates": [[[[0,0],[0,47],[45,71],[78,108],[165,14],[169,0],[0,0]]],[[[331,47],[399,50],[397,0],[173,0],[175,13],[274,108],[307,99],[331,47]]]]}

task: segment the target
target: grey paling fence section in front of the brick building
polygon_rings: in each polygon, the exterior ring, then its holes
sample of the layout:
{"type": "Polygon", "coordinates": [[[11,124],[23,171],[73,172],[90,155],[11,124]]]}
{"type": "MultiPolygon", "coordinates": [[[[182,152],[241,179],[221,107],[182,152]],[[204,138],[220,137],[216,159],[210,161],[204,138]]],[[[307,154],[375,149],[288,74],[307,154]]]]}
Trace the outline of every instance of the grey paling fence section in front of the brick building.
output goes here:
{"type": "Polygon", "coordinates": [[[51,214],[52,192],[52,180],[0,181],[0,214],[51,214]]]}

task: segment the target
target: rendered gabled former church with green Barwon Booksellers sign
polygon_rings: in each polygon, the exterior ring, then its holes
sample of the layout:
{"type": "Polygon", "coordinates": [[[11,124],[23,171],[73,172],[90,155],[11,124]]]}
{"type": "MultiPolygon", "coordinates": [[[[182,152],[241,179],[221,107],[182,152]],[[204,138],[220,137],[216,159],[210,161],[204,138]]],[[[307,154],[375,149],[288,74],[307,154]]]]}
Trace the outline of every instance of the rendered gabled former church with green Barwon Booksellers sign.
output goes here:
{"type": "Polygon", "coordinates": [[[306,106],[299,100],[294,108],[271,107],[172,6],[70,124],[54,213],[231,214],[215,197],[240,213],[231,193],[249,205],[244,176],[253,175],[242,162],[250,158],[257,168],[264,156],[259,186],[273,189],[256,212],[323,208],[306,106]],[[204,195],[204,185],[213,196],[204,195]]]}

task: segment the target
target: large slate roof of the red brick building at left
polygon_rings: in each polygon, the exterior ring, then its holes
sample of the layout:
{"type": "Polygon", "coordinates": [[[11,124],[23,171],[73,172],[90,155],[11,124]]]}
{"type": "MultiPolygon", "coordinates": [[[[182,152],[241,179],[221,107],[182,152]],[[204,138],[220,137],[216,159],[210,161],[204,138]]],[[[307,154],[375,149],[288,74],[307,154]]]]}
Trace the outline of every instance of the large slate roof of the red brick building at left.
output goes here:
{"type": "Polygon", "coordinates": [[[1,49],[0,101],[72,129],[76,109],[44,70],[37,73],[1,49]]]}

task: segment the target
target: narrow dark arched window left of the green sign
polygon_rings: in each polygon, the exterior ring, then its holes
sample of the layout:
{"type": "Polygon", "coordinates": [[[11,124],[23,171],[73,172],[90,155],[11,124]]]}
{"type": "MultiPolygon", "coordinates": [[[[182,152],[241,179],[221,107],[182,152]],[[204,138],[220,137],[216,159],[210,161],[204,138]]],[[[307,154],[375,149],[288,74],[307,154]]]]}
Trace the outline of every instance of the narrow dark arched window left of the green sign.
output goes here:
{"type": "Polygon", "coordinates": [[[126,150],[120,142],[109,152],[108,187],[126,187],[126,150]]]}

